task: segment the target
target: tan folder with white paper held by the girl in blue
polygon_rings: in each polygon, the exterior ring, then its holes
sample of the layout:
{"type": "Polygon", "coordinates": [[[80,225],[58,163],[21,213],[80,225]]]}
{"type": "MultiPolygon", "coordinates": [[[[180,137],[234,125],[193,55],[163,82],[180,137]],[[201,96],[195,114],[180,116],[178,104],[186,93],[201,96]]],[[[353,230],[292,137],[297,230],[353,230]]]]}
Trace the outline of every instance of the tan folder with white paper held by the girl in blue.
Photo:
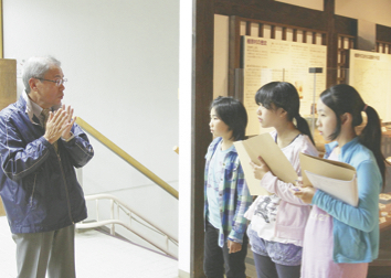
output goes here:
{"type": "Polygon", "coordinates": [[[299,153],[303,185],[313,185],[352,206],[358,205],[356,169],[345,162],[299,153]]]}

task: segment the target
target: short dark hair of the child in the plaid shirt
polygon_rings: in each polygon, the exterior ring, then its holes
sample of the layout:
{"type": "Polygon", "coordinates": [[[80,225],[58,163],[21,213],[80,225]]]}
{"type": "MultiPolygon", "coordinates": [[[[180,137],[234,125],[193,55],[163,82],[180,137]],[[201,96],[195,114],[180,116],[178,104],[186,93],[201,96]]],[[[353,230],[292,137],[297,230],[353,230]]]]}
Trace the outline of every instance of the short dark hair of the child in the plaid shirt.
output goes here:
{"type": "Polygon", "coordinates": [[[247,111],[243,104],[232,97],[216,97],[210,109],[214,108],[219,118],[232,130],[233,141],[245,139],[245,128],[247,126],[247,111]]]}

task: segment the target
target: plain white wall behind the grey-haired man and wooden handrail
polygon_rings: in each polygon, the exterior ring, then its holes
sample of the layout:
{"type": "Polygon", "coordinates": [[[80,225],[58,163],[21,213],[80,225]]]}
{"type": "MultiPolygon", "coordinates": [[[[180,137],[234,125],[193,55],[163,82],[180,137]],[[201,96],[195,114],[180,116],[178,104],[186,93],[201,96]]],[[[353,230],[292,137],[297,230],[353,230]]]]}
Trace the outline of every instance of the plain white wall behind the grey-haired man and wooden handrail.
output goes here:
{"type": "MultiPolygon", "coordinates": [[[[3,30],[6,58],[62,61],[64,103],[178,189],[178,0],[3,0],[3,30]]],[[[178,201],[91,140],[85,193],[113,193],[177,235],[178,201]]]]}

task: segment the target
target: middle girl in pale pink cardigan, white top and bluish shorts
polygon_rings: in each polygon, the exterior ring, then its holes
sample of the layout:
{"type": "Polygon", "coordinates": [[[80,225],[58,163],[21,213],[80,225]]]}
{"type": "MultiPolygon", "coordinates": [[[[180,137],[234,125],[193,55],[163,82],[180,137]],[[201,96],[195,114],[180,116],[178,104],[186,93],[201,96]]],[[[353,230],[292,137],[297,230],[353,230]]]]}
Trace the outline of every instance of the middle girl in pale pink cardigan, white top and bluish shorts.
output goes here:
{"type": "MultiPolygon", "coordinates": [[[[274,127],[271,135],[300,175],[299,153],[317,156],[307,121],[299,115],[299,96],[286,82],[264,85],[255,95],[261,126],[274,127]],[[293,122],[296,119],[297,126],[293,122]]],[[[272,195],[258,196],[245,216],[251,220],[247,234],[258,278],[300,276],[304,228],[309,206],[290,192],[294,184],[278,180],[260,158],[254,168],[260,186],[272,195]]]]}

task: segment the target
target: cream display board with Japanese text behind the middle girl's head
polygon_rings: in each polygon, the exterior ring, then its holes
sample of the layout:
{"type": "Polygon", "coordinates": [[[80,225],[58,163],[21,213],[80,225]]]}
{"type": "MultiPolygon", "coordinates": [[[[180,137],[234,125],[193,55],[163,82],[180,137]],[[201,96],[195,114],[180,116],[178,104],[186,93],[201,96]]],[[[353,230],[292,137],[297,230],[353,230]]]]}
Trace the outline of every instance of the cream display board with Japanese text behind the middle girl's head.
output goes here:
{"type": "Polygon", "coordinates": [[[263,132],[256,118],[255,93],[261,86],[274,82],[289,82],[300,96],[300,115],[309,116],[314,98],[326,88],[327,47],[325,45],[279,41],[246,36],[243,40],[243,104],[249,114],[246,135],[263,132]],[[309,67],[321,67],[323,73],[314,75],[309,67]]]}

